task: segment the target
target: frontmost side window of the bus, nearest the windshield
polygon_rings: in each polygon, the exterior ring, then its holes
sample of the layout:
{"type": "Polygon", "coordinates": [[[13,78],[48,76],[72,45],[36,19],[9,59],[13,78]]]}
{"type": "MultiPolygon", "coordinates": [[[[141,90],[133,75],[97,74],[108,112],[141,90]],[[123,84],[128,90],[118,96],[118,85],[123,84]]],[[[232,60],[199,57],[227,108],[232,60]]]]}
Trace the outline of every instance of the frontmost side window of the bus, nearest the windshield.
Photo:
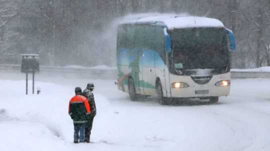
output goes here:
{"type": "Polygon", "coordinates": [[[165,60],[164,27],[155,26],[155,51],[165,60]]]}

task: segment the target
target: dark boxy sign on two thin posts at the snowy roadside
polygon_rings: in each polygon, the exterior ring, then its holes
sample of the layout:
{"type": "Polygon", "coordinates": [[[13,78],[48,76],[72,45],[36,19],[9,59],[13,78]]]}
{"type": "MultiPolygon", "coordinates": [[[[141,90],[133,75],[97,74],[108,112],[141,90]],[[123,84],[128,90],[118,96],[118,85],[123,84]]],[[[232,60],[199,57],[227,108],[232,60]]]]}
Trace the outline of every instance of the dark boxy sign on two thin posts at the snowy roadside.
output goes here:
{"type": "Polygon", "coordinates": [[[28,73],[32,73],[32,94],[34,94],[34,73],[39,72],[38,54],[21,54],[20,71],[26,74],[26,95],[28,93],[28,73]]]}

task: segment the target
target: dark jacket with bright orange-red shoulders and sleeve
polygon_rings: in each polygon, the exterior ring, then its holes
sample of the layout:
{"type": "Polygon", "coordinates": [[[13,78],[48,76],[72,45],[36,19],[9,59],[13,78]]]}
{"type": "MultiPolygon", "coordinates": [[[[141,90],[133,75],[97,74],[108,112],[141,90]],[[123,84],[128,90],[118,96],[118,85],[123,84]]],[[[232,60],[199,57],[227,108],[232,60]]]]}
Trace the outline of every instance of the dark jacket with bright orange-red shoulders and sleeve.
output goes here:
{"type": "Polygon", "coordinates": [[[91,113],[90,111],[88,100],[85,97],[75,95],[70,99],[68,114],[74,123],[86,123],[91,113]]]}

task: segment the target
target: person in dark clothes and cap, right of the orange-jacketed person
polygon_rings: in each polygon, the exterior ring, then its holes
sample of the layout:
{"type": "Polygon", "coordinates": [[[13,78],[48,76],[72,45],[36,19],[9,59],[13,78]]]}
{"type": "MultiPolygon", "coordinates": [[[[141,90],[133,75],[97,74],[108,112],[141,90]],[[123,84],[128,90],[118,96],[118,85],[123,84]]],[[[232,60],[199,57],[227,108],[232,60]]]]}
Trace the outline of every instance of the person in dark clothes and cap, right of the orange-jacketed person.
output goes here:
{"type": "Polygon", "coordinates": [[[90,108],[91,108],[91,114],[90,114],[89,119],[88,119],[86,126],[85,126],[85,140],[84,140],[84,142],[86,142],[86,143],[90,143],[90,135],[91,135],[92,125],[93,125],[93,119],[96,115],[94,95],[92,93],[93,89],[94,89],[94,84],[88,83],[86,88],[82,92],[83,96],[85,96],[88,99],[88,103],[89,103],[90,108]]]}

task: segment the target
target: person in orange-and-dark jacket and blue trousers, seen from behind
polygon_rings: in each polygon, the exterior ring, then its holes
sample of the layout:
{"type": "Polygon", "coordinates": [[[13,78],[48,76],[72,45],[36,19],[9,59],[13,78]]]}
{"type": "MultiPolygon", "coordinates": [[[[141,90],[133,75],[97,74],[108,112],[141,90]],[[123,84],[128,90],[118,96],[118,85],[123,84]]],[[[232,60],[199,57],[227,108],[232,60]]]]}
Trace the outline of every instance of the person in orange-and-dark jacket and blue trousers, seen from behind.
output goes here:
{"type": "Polygon", "coordinates": [[[81,88],[76,87],[75,96],[70,99],[68,104],[68,114],[74,125],[74,143],[84,143],[85,124],[90,111],[88,100],[81,95],[81,88]]]}

